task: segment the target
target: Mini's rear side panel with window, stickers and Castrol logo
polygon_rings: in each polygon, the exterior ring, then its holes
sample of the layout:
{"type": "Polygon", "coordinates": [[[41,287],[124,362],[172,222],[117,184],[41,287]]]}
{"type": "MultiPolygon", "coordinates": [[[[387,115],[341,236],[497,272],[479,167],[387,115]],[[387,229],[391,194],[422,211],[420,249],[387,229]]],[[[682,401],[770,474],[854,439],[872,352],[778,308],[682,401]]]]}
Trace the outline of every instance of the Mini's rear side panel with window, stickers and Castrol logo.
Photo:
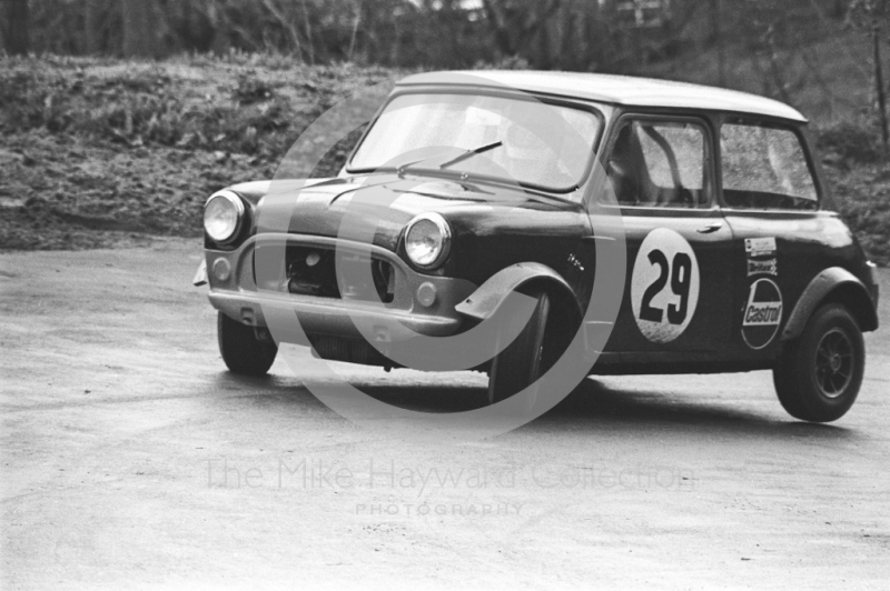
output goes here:
{"type": "Polygon", "coordinates": [[[769,355],[810,281],[843,264],[849,231],[820,210],[820,184],[800,130],[729,118],[721,124],[722,201],[735,237],[732,345],[769,355]]]}

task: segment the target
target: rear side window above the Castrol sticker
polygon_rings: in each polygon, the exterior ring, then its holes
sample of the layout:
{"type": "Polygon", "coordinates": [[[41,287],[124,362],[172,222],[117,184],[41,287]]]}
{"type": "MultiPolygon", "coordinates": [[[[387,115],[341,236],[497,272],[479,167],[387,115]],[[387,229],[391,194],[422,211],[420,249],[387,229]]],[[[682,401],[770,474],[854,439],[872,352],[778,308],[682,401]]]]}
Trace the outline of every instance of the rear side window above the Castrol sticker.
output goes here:
{"type": "Polygon", "coordinates": [[[807,157],[797,133],[726,123],[720,132],[723,199],[735,209],[818,209],[807,157]]]}

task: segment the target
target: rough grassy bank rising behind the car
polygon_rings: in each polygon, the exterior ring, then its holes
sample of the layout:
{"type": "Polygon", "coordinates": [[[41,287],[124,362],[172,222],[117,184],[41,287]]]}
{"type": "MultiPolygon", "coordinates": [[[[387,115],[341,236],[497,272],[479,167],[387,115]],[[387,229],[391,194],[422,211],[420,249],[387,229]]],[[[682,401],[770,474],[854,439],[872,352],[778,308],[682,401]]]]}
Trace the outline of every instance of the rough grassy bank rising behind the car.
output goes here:
{"type": "MultiPolygon", "coordinates": [[[[198,237],[210,192],[269,178],[332,104],[404,73],[275,56],[2,59],[0,248],[198,237]]],[[[869,256],[888,264],[890,167],[877,127],[861,113],[825,121],[813,124],[829,186],[869,256]]]]}

